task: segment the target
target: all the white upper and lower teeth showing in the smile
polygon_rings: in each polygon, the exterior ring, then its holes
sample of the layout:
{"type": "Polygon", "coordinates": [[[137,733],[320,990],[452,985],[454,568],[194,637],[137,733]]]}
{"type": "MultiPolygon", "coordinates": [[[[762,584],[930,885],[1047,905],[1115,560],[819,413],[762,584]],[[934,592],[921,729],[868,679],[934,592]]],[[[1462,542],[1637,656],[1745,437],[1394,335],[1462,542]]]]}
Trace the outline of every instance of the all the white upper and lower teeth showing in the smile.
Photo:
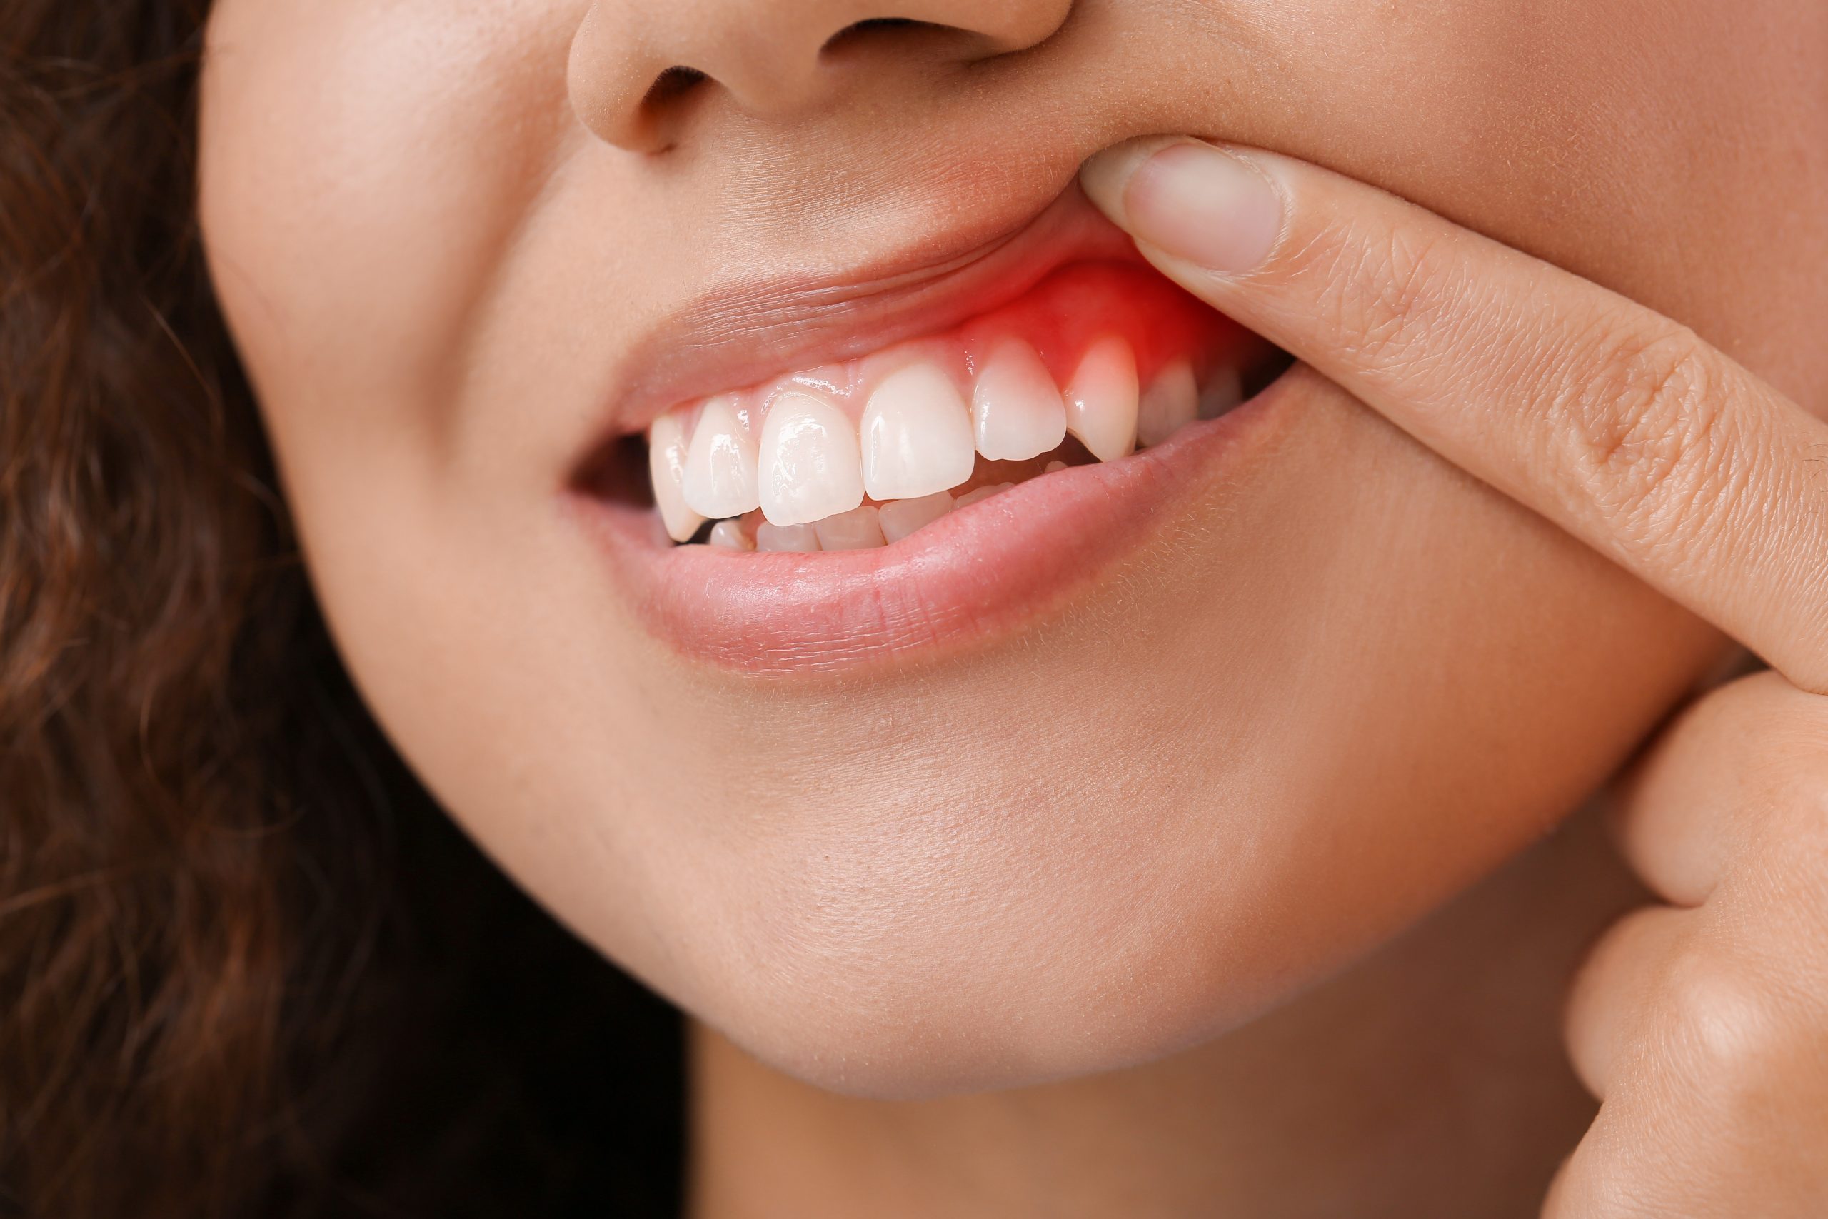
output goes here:
{"type": "MultiPolygon", "coordinates": [[[[649,473],[667,535],[691,541],[711,521],[713,545],[731,550],[881,546],[1011,486],[949,495],[980,455],[1046,459],[1073,435],[1095,459],[1115,461],[1243,400],[1236,367],[1201,382],[1188,358],[1166,364],[1141,393],[1135,351],[1115,334],[1086,349],[1060,391],[1036,349],[1005,336],[978,366],[967,406],[958,369],[934,353],[943,355],[932,344],[903,353],[907,362],[892,364],[863,404],[861,426],[839,402],[856,384],[843,367],[826,369],[832,387],[804,373],[777,382],[766,417],[726,393],[698,406],[689,435],[693,411],[656,419],[649,473]],[[757,510],[764,528],[744,534],[737,517],[757,510]]],[[[1044,473],[1064,468],[1047,461],[1044,473]]]]}

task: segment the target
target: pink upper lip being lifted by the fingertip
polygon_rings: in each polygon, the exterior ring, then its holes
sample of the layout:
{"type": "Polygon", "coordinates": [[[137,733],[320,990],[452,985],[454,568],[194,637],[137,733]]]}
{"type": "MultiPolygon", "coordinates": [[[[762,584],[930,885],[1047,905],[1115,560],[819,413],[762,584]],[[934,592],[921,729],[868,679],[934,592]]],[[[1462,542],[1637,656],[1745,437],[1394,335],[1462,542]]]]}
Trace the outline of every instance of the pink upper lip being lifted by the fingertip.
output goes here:
{"type": "Polygon", "coordinates": [[[958,325],[1075,260],[1139,258],[1077,179],[1018,219],[923,234],[839,276],[726,283],[658,318],[618,360],[605,439],[680,402],[958,325]]]}

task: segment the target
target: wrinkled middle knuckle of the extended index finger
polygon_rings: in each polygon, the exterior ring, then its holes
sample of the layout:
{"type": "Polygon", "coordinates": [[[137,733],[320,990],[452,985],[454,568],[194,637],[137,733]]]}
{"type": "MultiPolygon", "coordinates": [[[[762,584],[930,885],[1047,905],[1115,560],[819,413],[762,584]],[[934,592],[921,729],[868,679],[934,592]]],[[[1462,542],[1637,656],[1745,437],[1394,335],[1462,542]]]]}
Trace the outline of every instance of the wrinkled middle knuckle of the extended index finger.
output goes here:
{"type": "Polygon", "coordinates": [[[1680,327],[1601,316],[1585,369],[1556,395],[1579,492],[1627,546],[1682,539],[1729,503],[1726,369],[1680,327]]]}

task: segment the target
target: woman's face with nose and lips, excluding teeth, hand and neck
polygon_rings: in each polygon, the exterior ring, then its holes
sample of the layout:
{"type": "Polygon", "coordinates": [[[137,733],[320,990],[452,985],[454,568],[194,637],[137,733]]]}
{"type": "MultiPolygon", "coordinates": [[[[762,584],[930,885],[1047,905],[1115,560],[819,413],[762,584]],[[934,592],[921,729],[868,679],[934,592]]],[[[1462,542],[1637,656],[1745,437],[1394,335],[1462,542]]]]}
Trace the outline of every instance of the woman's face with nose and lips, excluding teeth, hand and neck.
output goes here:
{"type": "Polygon", "coordinates": [[[1819,406],[1828,221],[1790,201],[1824,197],[1824,24],[218,0],[203,223],[342,652],[468,832],[779,1067],[1005,1086],[1212,1036],[1387,938],[1718,640],[1300,367],[865,556],[671,552],[645,468],[592,459],[1108,252],[1075,170],[1152,132],[1387,186],[1819,406]],[[885,16],[929,24],[854,29],[885,16]]]}

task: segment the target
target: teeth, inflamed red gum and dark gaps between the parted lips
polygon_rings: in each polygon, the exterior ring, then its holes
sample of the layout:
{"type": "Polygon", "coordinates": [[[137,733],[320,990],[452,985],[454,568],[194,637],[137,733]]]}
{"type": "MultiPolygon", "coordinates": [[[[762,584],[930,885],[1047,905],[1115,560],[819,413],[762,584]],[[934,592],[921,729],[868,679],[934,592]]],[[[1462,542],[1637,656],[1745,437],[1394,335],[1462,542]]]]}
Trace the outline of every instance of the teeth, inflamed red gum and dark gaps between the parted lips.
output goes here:
{"type": "Polygon", "coordinates": [[[680,545],[861,550],[1217,419],[1292,358],[1152,267],[1080,261],[952,331],[682,402],[596,462],[680,545]],[[642,466],[645,464],[645,477],[642,466]]]}

